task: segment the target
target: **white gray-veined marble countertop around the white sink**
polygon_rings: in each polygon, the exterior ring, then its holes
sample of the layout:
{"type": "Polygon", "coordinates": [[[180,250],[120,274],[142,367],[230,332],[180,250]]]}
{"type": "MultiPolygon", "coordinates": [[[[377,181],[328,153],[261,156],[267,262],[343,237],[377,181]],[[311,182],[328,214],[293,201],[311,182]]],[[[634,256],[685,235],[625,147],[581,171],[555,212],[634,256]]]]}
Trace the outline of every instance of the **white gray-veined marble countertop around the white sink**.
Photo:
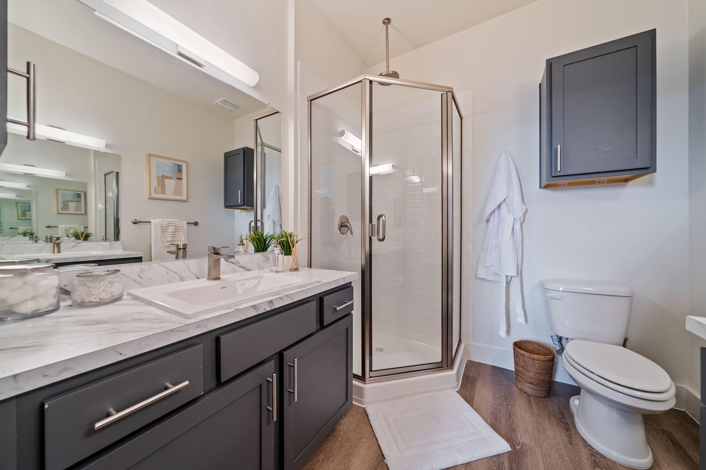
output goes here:
{"type": "Polygon", "coordinates": [[[0,323],[0,400],[143,354],[261,314],[357,279],[358,274],[303,268],[317,284],[233,305],[193,319],[150,307],[127,295],[97,307],[72,307],[46,316],[0,323]]]}

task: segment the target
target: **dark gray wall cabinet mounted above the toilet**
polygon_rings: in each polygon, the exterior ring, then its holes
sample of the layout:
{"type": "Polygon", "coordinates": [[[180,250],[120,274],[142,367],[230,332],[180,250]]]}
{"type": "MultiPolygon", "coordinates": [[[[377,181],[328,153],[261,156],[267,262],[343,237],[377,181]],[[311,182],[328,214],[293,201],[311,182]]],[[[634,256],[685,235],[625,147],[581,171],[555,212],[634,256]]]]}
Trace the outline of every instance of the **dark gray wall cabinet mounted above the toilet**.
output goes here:
{"type": "Polygon", "coordinates": [[[656,30],[546,61],[539,187],[627,183],[657,171],[656,30]]]}

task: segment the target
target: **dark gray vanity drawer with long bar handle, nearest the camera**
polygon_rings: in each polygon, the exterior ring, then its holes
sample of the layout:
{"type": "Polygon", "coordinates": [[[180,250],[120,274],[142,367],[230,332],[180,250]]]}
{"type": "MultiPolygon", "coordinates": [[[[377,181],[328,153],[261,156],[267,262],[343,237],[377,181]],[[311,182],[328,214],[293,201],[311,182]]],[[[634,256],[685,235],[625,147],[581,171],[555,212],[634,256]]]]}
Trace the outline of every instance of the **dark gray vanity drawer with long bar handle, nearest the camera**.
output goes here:
{"type": "Polygon", "coordinates": [[[44,469],[64,470],[202,393],[195,345],[44,400],[44,469]]]}

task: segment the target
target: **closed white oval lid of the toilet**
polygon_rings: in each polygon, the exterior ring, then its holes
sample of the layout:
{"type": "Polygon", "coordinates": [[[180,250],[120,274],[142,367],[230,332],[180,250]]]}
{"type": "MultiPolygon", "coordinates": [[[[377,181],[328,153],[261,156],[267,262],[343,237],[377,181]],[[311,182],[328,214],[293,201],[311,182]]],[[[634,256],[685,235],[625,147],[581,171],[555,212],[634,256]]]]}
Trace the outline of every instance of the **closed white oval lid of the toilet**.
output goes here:
{"type": "Polygon", "coordinates": [[[662,367],[625,347],[573,340],[564,354],[588,371],[624,387],[645,392],[666,392],[671,378],[662,367]]]}

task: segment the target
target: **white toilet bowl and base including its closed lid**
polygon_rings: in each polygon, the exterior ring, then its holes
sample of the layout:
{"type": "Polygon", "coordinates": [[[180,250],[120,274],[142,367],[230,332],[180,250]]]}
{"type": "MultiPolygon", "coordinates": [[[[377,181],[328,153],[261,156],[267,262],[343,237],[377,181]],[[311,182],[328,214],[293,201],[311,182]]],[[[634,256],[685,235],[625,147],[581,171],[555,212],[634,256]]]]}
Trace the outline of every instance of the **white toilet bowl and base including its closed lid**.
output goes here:
{"type": "Polygon", "coordinates": [[[561,364],[581,388],[570,409],[587,443],[635,469],[652,466],[643,414],[674,407],[676,388],[657,364],[618,345],[573,340],[561,364]]]}

